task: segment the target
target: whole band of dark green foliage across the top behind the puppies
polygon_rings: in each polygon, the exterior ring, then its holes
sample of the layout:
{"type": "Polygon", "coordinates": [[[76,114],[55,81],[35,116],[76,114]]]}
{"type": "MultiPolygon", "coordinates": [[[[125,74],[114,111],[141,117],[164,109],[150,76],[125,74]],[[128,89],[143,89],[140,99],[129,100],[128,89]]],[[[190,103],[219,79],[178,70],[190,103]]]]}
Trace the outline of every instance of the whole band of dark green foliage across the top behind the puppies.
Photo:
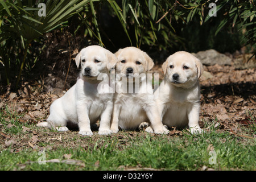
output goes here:
{"type": "Polygon", "coordinates": [[[65,26],[73,28],[74,36],[86,37],[110,51],[136,46],[153,52],[203,48],[233,52],[255,46],[255,10],[253,0],[1,0],[0,61],[7,84],[19,73],[18,84],[23,67],[31,68],[38,58],[31,60],[35,53],[31,44],[40,44],[46,32],[65,26]],[[38,16],[40,2],[46,3],[46,16],[38,16]],[[209,14],[214,9],[210,3],[215,3],[217,16],[209,14]]]}

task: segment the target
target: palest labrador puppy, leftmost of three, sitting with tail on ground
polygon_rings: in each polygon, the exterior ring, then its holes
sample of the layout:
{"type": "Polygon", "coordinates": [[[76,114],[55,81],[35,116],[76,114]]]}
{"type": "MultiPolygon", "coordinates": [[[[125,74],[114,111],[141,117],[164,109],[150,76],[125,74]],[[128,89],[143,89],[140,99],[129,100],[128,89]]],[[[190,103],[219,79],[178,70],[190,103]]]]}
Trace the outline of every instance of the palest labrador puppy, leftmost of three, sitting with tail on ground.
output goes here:
{"type": "Polygon", "coordinates": [[[115,55],[100,46],[88,46],[76,56],[76,64],[81,63],[81,72],[77,82],[63,97],[54,101],[50,107],[47,122],[38,126],[67,131],[67,125],[79,126],[79,134],[92,135],[90,125],[100,119],[98,134],[111,134],[110,119],[113,110],[113,93],[109,82],[102,85],[102,77],[110,75],[109,70],[115,66],[115,55]],[[104,90],[105,89],[105,90],[104,90]]]}

